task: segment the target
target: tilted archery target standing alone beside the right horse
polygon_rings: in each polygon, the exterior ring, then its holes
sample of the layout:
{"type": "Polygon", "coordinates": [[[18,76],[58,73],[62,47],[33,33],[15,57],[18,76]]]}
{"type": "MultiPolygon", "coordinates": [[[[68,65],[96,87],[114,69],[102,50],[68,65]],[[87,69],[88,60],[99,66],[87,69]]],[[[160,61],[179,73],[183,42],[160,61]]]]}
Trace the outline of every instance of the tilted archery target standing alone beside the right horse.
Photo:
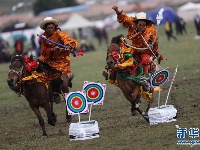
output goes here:
{"type": "Polygon", "coordinates": [[[153,87],[158,87],[165,82],[169,81],[169,71],[168,68],[163,69],[156,73],[152,78],[151,78],[151,85],[153,87]]]}

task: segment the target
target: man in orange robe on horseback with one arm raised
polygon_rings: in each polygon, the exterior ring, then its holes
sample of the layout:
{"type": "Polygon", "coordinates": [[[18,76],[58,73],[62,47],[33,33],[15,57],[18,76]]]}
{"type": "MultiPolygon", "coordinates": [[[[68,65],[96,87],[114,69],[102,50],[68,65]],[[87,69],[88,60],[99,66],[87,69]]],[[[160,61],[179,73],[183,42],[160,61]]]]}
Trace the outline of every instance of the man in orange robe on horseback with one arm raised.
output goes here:
{"type": "MultiPolygon", "coordinates": [[[[132,41],[132,47],[134,50],[134,55],[136,59],[139,60],[139,65],[143,67],[143,76],[141,80],[145,82],[144,89],[150,90],[150,74],[149,74],[149,64],[150,58],[158,58],[158,62],[163,59],[160,57],[158,51],[158,37],[156,27],[153,21],[147,19],[146,13],[140,12],[135,15],[135,17],[129,17],[123,11],[119,11],[117,6],[113,6],[112,9],[117,14],[117,20],[123,25],[123,27],[128,28],[127,39],[132,41]]],[[[126,67],[126,66],[124,66],[126,67]]]]}

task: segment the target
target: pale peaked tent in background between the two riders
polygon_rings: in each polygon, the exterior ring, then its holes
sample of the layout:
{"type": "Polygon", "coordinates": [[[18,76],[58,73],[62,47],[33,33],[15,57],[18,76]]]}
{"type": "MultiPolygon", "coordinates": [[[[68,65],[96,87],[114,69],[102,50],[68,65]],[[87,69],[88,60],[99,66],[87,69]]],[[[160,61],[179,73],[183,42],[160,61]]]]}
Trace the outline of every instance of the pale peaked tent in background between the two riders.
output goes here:
{"type": "Polygon", "coordinates": [[[78,28],[93,27],[94,23],[83,16],[74,13],[72,14],[66,23],[61,26],[62,30],[73,30],[78,28]]]}

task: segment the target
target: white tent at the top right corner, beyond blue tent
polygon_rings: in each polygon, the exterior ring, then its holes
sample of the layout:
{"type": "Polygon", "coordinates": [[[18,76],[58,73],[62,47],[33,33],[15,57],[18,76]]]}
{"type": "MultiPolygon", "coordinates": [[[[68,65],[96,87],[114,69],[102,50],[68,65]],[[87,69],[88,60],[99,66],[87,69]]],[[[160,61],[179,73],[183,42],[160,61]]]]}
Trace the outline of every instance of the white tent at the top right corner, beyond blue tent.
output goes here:
{"type": "Polygon", "coordinates": [[[200,3],[188,2],[177,9],[177,14],[185,21],[192,21],[194,16],[200,15],[200,3]]]}

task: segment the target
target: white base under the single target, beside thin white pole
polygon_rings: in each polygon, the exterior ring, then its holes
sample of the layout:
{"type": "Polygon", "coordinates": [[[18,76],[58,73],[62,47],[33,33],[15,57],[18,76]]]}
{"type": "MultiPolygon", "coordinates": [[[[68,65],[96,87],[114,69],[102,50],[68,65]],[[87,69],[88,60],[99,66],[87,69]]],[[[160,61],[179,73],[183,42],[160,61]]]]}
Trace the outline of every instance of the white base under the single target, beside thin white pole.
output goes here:
{"type": "Polygon", "coordinates": [[[173,105],[162,105],[148,111],[150,125],[176,121],[177,110],[173,105]]]}

